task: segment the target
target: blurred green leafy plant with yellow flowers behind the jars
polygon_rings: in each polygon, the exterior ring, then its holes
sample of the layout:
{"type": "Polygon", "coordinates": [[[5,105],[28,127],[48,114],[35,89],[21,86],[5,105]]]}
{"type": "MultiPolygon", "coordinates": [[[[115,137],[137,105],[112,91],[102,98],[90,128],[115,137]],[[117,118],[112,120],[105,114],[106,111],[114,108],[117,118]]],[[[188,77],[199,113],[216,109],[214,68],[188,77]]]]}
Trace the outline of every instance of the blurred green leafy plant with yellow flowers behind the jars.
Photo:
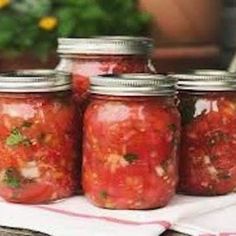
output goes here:
{"type": "Polygon", "coordinates": [[[46,56],[58,37],[145,35],[136,0],[0,0],[0,51],[46,56]]]}

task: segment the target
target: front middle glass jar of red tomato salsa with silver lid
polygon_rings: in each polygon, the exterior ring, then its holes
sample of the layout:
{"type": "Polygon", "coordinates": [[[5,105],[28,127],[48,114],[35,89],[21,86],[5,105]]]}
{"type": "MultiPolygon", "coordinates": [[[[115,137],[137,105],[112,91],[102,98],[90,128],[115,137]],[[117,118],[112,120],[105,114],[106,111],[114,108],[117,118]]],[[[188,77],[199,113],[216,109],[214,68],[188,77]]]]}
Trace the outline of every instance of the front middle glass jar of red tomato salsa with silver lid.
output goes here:
{"type": "Polygon", "coordinates": [[[82,185],[93,204],[150,209],[174,195],[180,129],[174,84],[161,75],[91,78],[82,185]]]}

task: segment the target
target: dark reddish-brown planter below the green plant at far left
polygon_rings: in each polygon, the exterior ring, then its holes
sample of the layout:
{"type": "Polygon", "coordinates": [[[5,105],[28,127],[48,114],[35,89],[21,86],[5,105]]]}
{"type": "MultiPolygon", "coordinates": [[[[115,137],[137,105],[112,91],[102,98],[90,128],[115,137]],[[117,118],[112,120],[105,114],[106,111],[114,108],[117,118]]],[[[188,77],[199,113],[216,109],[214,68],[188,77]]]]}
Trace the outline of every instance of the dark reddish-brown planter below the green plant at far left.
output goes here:
{"type": "Polygon", "coordinates": [[[0,56],[0,71],[10,71],[19,69],[51,69],[57,64],[56,54],[51,54],[45,60],[40,60],[38,57],[27,53],[18,57],[3,57],[0,56]]]}

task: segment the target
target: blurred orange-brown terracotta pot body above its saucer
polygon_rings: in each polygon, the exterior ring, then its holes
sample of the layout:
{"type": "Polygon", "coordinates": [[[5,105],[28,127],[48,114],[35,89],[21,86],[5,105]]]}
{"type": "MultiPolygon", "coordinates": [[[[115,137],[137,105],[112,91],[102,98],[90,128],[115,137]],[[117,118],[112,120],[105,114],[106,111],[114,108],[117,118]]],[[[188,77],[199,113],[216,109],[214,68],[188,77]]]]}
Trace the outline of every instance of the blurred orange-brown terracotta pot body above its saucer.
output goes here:
{"type": "Polygon", "coordinates": [[[220,0],[139,0],[153,17],[152,34],[161,45],[218,41],[220,0]]]}

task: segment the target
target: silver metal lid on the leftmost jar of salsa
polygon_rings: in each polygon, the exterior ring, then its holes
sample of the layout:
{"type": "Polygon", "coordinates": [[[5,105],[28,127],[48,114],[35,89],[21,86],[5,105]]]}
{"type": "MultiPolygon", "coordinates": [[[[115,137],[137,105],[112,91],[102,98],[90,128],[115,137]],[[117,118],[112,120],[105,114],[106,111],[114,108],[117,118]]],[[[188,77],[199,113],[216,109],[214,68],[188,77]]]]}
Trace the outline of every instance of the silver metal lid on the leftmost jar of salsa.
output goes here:
{"type": "Polygon", "coordinates": [[[35,93],[71,89],[70,75],[54,70],[19,70],[0,74],[0,92],[35,93]]]}

